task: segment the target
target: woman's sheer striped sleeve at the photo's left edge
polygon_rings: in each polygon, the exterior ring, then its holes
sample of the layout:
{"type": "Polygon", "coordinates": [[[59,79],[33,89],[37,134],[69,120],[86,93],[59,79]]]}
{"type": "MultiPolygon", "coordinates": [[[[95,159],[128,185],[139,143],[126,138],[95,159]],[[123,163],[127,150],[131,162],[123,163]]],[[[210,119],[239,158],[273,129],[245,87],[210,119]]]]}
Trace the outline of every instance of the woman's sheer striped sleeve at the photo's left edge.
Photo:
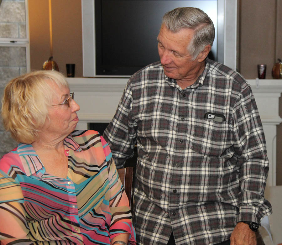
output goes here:
{"type": "MultiPolygon", "coordinates": [[[[1,162],[1,165],[3,161],[1,162]]],[[[24,211],[24,197],[17,181],[0,170],[0,240],[1,244],[34,244],[24,211]]]]}

